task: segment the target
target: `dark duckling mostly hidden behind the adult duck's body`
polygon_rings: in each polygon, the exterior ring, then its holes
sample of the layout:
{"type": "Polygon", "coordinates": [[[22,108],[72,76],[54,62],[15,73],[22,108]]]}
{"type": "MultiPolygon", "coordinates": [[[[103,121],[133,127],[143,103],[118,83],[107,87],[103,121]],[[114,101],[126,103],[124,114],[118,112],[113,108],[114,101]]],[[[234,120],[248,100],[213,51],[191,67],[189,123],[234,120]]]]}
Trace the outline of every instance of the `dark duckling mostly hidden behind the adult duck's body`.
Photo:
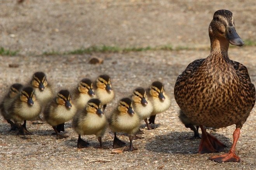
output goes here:
{"type": "Polygon", "coordinates": [[[182,110],[179,110],[179,120],[185,125],[186,128],[190,128],[194,132],[194,136],[190,137],[190,139],[201,139],[199,135],[199,125],[192,122],[185,113],[182,112],[182,110]],[[194,127],[196,125],[196,128],[194,127]]]}

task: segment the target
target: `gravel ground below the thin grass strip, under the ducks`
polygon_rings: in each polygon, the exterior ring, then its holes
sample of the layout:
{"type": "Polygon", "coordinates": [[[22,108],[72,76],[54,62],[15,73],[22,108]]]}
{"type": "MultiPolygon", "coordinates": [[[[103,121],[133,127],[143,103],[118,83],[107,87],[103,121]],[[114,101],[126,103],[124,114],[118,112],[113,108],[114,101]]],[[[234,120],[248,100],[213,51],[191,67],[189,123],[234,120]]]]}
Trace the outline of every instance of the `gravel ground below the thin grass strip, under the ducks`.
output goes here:
{"type": "MultiPolygon", "coordinates": [[[[247,65],[251,79],[256,84],[256,62],[253,53],[256,48],[232,48],[230,56],[247,65]],[[254,61],[254,62],[252,62],[254,61]]],[[[143,129],[144,139],[134,141],[138,151],[111,154],[111,149],[94,149],[98,145],[95,136],[84,136],[89,140],[91,147],[77,149],[77,134],[66,124],[65,134],[68,139],[56,140],[51,135],[50,125],[28,123],[27,127],[35,135],[16,136],[8,132],[9,125],[0,119],[0,165],[4,169],[254,169],[256,163],[256,110],[244,124],[237,144],[237,154],[242,158],[240,163],[216,163],[207,160],[216,154],[198,154],[199,140],[190,140],[193,135],[178,119],[178,105],[173,96],[174,83],[177,76],[186,65],[209,54],[208,51],[182,50],[179,52],[131,52],[94,54],[104,59],[101,65],[88,64],[91,55],[80,56],[48,56],[48,57],[0,57],[6,63],[0,64],[1,88],[3,94],[13,82],[26,83],[33,72],[42,70],[47,73],[49,81],[55,91],[63,88],[72,89],[82,77],[97,77],[99,74],[110,74],[113,89],[116,92],[115,100],[106,108],[109,114],[116,107],[118,99],[131,94],[132,89],[147,87],[150,82],[160,80],[164,82],[167,93],[171,96],[171,107],[166,112],[157,115],[156,129],[143,129]],[[157,56],[157,57],[155,57],[157,56]],[[141,62],[143,61],[143,62],[141,62]],[[186,61],[186,62],[184,62],[186,61]],[[18,63],[18,68],[9,68],[9,64],[18,63]]],[[[145,127],[145,126],[143,126],[145,127]]],[[[235,125],[227,128],[210,131],[228,148],[232,145],[235,125]]],[[[128,142],[128,137],[121,139],[128,142]]],[[[104,144],[111,148],[113,134],[106,132],[104,144]]]]}

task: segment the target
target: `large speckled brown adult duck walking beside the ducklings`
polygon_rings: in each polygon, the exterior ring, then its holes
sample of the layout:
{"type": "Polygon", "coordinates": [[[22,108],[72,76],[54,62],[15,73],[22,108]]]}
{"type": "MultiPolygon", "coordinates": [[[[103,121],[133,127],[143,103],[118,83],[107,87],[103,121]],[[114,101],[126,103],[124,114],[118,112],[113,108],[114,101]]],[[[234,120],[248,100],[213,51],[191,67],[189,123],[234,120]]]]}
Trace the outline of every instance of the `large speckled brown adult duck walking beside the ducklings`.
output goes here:
{"type": "Polygon", "coordinates": [[[202,139],[199,153],[222,151],[225,147],[207,133],[203,126],[227,127],[235,124],[233,144],[228,154],[213,156],[218,162],[240,161],[235,154],[240,129],[255,104],[255,87],[247,68],[228,58],[228,46],[242,46],[244,42],[235,30],[233,14],[229,10],[214,13],[209,26],[211,53],[195,60],[178,76],[174,97],[185,115],[200,125],[202,139]]]}

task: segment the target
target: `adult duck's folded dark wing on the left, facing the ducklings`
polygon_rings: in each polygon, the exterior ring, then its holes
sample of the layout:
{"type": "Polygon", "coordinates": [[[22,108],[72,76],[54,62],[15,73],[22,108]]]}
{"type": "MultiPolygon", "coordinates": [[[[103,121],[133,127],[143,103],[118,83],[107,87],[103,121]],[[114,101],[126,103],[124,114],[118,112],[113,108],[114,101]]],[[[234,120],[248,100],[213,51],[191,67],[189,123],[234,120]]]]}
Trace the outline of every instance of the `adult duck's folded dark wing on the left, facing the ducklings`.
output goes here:
{"type": "Polygon", "coordinates": [[[204,60],[205,58],[201,58],[191,62],[186,67],[186,69],[181,73],[181,75],[178,76],[175,86],[186,82],[186,80],[190,77],[190,75],[193,74],[193,72],[195,72],[200,67],[200,65],[202,65],[202,62],[204,62],[204,60]]]}

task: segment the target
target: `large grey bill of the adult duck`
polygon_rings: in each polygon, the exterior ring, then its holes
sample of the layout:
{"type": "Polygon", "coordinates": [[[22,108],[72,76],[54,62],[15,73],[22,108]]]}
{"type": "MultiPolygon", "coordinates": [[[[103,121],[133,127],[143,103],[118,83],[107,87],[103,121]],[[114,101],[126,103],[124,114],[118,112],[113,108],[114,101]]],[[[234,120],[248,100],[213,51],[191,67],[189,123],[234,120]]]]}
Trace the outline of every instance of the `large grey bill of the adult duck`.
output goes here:
{"type": "Polygon", "coordinates": [[[236,46],[243,46],[244,41],[239,37],[237,31],[235,31],[234,26],[226,27],[225,38],[229,41],[230,44],[236,46]]]}

